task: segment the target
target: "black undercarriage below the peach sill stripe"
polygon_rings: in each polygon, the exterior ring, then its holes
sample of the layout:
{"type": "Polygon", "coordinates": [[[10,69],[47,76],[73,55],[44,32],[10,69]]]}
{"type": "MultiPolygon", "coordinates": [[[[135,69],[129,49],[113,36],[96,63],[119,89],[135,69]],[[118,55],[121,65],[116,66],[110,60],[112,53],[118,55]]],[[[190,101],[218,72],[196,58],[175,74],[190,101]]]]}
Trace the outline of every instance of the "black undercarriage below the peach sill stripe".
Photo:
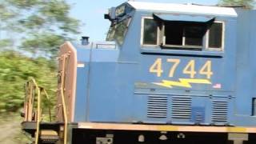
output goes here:
{"type": "Polygon", "coordinates": [[[253,144],[255,134],[74,129],[72,143],[90,144],[253,144]]]}

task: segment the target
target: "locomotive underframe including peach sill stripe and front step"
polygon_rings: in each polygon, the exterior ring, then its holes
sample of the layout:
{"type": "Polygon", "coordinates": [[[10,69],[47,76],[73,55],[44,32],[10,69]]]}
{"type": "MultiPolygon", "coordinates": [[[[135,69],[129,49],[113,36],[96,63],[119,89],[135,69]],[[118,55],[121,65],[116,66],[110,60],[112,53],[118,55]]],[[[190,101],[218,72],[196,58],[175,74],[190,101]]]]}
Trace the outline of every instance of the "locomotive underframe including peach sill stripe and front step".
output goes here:
{"type": "MultiPolygon", "coordinates": [[[[32,138],[35,137],[36,123],[23,122],[22,128],[31,134],[32,138]]],[[[197,126],[70,123],[67,130],[68,137],[66,138],[66,143],[253,144],[256,142],[254,130],[250,131],[248,129],[246,131],[250,133],[242,133],[244,130],[246,129],[222,126],[204,126],[202,130],[198,130],[197,126]],[[102,127],[102,129],[99,127],[102,127]],[[137,129],[134,129],[134,127],[137,127],[137,129]],[[209,130],[204,131],[207,130],[207,127],[209,127],[209,130]],[[184,131],[181,131],[182,129],[184,131]],[[222,131],[224,129],[227,131],[222,131]]],[[[38,143],[65,143],[63,123],[41,123],[38,138],[38,143]]]]}

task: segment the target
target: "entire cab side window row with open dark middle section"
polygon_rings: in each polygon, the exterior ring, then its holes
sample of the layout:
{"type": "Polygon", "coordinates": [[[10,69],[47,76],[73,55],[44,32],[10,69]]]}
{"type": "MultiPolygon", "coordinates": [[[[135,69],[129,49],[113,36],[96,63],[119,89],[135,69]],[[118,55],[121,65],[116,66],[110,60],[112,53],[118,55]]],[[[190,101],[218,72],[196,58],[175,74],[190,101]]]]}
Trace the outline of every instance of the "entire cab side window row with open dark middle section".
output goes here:
{"type": "MultiPolygon", "coordinates": [[[[167,14],[166,14],[167,15],[167,14]]],[[[162,49],[222,50],[224,23],[214,18],[142,18],[142,46],[162,49]],[[186,21],[185,21],[186,19],[186,21]]]]}

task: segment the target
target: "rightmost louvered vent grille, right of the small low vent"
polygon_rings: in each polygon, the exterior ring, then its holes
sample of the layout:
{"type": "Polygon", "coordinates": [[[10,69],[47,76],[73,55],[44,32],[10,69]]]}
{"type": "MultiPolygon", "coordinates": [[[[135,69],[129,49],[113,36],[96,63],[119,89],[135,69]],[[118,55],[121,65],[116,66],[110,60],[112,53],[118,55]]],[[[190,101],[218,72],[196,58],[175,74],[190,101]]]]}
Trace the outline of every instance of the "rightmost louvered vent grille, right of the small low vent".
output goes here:
{"type": "Polygon", "coordinates": [[[228,102],[213,101],[212,106],[212,121],[227,122],[228,102]]]}

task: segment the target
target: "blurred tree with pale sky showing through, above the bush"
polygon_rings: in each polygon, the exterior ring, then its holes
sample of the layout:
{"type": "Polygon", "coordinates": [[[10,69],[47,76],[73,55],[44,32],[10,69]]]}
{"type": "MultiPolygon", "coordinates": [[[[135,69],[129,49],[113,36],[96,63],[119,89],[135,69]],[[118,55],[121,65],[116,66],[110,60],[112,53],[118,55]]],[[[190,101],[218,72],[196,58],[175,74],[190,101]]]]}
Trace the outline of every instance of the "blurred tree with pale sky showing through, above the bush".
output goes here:
{"type": "Polygon", "coordinates": [[[79,34],[70,8],[65,0],[0,0],[0,46],[54,57],[58,46],[79,34]]]}

